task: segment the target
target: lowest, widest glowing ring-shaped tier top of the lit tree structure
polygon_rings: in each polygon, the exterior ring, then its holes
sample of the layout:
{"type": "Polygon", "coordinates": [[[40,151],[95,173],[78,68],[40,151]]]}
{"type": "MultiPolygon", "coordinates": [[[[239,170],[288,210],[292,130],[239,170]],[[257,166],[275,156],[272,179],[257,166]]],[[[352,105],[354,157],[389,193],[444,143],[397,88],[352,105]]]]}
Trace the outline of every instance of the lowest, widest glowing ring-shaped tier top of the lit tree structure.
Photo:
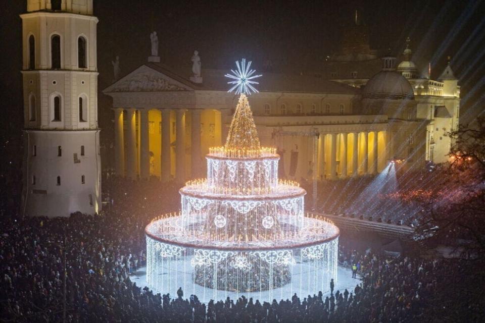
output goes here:
{"type": "Polygon", "coordinates": [[[145,228],[147,237],[163,242],[165,244],[175,245],[184,248],[207,249],[207,250],[223,250],[223,251],[264,251],[264,250],[281,250],[281,249],[298,249],[311,247],[314,245],[326,243],[335,240],[340,236],[340,230],[333,224],[314,218],[304,218],[303,230],[306,236],[292,237],[288,239],[269,240],[269,241],[214,241],[204,240],[187,236],[183,230],[173,230],[175,218],[160,219],[150,223],[145,228]],[[160,233],[160,226],[167,226],[170,229],[167,233],[160,233]],[[312,230],[320,229],[324,233],[312,233],[312,230]]]}

